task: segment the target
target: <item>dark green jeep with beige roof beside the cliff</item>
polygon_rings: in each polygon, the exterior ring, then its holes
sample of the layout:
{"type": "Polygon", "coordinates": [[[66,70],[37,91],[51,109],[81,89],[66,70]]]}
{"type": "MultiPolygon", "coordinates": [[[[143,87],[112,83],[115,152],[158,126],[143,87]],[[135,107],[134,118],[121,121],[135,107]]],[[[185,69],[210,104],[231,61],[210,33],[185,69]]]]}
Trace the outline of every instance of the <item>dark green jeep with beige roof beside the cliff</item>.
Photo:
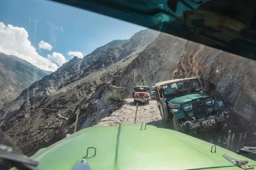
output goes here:
{"type": "Polygon", "coordinates": [[[175,79],[157,83],[156,99],[164,121],[172,120],[177,131],[220,128],[229,119],[223,101],[203,93],[198,77],[175,79]]]}

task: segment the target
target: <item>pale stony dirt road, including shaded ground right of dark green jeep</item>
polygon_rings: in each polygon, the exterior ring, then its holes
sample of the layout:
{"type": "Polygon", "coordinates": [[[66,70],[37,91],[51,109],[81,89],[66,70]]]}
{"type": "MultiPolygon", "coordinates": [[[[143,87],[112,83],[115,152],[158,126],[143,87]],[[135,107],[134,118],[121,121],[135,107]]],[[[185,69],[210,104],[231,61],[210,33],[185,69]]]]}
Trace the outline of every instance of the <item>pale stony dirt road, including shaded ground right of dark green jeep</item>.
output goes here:
{"type": "MultiPolygon", "coordinates": [[[[95,126],[118,126],[120,124],[133,124],[135,118],[136,106],[133,98],[125,99],[125,104],[114,111],[109,117],[105,117],[95,126]]],[[[232,122],[229,122],[229,124],[232,122]]],[[[164,122],[160,116],[156,100],[150,100],[149,105],[139,103],[136,124],[148,124],[160,128],[172,129],[171,122],[164,122]]],[[[247,134],[237,129],[225,129],[223,131],[216,130],[190,130],[183,131],[187,135],[196,137],[206,142],[216,144],[233,152],[242,148],[242,143],[251,142],[255,139],[255,134],[247,134]],[[247,136],[250,136],[248,138],[247,136]]],[[[255,155],[245,154],[245,157],[256,160],[255,155]]]]}

